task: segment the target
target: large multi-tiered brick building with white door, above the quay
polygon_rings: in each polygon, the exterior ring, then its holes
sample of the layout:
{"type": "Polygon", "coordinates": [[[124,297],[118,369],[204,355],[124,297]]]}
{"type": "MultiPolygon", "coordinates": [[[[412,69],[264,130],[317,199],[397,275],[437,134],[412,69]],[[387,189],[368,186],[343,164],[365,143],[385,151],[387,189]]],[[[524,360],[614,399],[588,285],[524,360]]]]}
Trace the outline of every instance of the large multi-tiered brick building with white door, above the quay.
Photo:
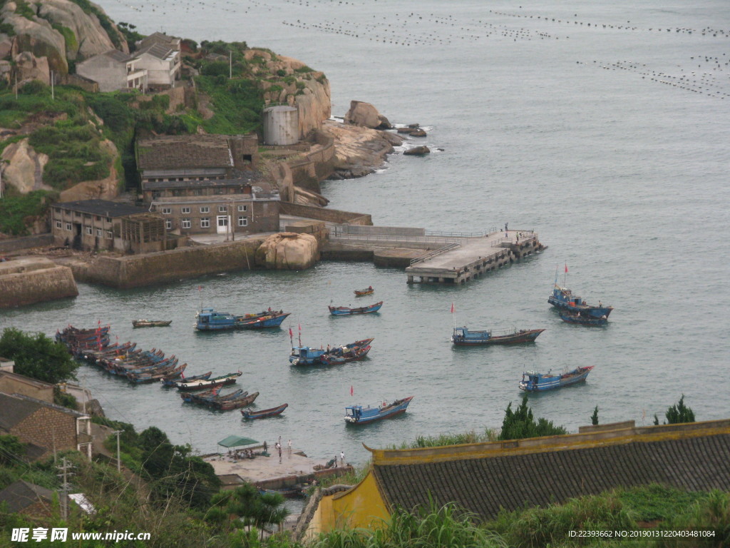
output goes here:
{"type": "Polygon", "coordinates": [[[137,142],[142,200],[181,235],[277,232],[277,189],[255,135],[167,135],[137,142]]]}

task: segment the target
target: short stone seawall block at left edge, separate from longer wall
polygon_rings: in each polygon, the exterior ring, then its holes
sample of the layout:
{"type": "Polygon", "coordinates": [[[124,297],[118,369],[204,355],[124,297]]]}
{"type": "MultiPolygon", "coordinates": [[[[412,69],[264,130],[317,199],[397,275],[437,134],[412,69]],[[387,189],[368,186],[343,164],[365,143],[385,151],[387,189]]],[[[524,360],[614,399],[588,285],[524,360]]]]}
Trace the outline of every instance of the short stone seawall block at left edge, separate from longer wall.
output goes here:
{"type": "Polygon", "coordinates": [[[0,263],[0,308],[76,297],[79,290],[69,267],[48,259],[18,259],[0,263]]]}

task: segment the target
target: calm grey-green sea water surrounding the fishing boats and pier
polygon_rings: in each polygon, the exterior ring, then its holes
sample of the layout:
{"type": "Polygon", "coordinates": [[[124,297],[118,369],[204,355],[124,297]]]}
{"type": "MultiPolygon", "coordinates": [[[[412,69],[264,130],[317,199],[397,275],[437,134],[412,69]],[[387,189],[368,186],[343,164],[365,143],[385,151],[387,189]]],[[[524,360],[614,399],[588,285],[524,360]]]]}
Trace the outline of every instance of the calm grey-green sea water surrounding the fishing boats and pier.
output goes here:
{"type": "MultiPolygon", "coordinates": [[[[407,286],[401,270],[323,262],[303,273],[229,273],[170,286],[80,295],[1,311],[0,326],[53,334],[112,324],[120,341],[164,349],[188,373],[242,370],[276,419],[183,405],[174,391],[132,387],[83,365],[107,415],[156,425],[215,451],[230,434],[281,435],[312,457],[417,435],[499,427],[523,370],[596,365],[586,384],[530,398],[569,430],[663,416],[683,393],[698,419],[729,416],[730,4],[576,1],[101,1],[144,34],[246,41],[328,76],[334,115],[351,99],[393,123],[429,128],[426,158],[393,155],[382,172],[327,182],[331,206],[375,224],[475,231],[536,229],[544,254],[463,287],[407,286]],[[363,197],[366,197],[365,199],[363,197]],[[615,307],[604,329],[560,321],[547,302],[556,266],[566,286],[615,307]],[[334,318],[372,284],[376,315],[334,318]],[[198,287],[202,286],[199,290],[198,287]],[[291,311],[274,332],[196,333],[202,304],[235,313],[291,311]],[[547,330],[531,346],[453,349],[459,324],[547,330]],[[172,327],[132,330],[139,317],[172,327]],[[356,365],[288,365],[288,328],[312,346],[374,337],[356,365]],[[350,387],[354,396],[350,396],[350,387]],[[415,395],[404,416],[346,427],[350,403],[415,395]]],[[[359,302],[359,301],[358,301],[359,302]]]]}

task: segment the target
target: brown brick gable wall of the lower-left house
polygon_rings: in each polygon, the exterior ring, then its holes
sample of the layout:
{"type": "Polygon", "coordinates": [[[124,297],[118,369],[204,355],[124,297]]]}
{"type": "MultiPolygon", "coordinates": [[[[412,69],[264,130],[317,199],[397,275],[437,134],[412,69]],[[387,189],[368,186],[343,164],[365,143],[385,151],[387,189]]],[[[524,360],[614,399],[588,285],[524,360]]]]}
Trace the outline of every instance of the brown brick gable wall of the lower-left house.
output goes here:
{"type": "Polygon", "coordinates": [[[53,453],[54,447],[56,451],[77,449],[76,417],[53,408],[39,408],[10,428],[10,433],[20,441],[44,447],[48,453],[53,453]]]}

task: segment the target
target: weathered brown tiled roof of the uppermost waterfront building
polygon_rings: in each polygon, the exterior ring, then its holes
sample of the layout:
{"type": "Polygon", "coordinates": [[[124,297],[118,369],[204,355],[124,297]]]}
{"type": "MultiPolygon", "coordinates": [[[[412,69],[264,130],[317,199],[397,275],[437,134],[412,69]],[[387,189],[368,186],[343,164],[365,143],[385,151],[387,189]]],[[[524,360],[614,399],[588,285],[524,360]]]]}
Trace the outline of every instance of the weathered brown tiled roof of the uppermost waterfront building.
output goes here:
{"type": "Polygon", "coordinates": [[[226,135],[166,135],[137,141],[139,170],[233,167],[226,135]]]}

